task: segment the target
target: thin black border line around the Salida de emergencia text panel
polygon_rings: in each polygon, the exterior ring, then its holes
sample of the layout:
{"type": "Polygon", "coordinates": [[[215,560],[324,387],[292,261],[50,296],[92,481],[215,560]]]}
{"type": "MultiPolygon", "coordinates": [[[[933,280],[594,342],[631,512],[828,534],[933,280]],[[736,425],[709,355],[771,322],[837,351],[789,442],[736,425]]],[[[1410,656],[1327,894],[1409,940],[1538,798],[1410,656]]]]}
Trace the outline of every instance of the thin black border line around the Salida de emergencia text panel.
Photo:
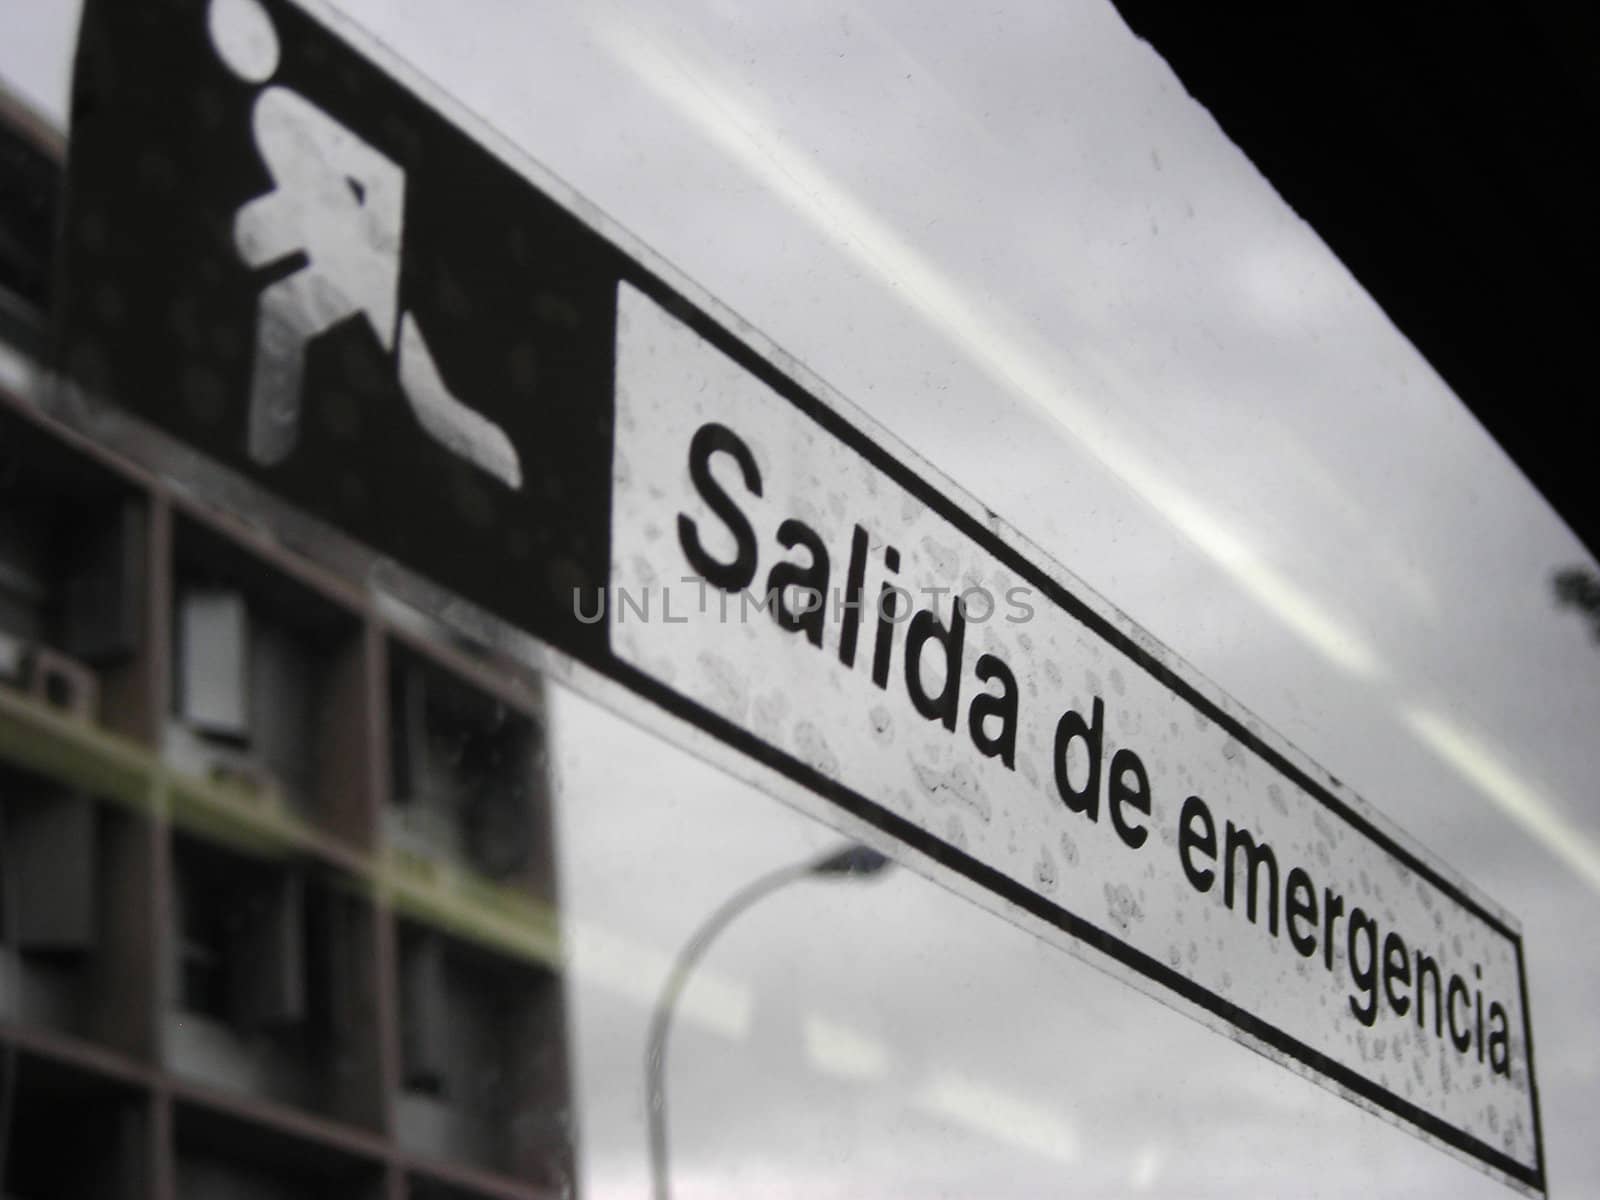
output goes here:
{"type": "MultiPolygon", "coordinates": [[[[1424,1130],[1426,1133],[1438,1138],[1442,1142],[1453,1146],[1454,1149],[1467,1154],[1483,1163],[1488,1163],[1498,1171],[1517,1179],[1518,1182],[1533,1187],[1539,1192],[1546,1190],[1544,1181],[1544,1131],[1539,1123],[1539,1088],[1533,1072],[1533,1019],[1528,1013],[1528,973],[1523,963],[1522,934],[1512,931],[1499,917],[1488,912],[1474,898],[1467,896],[1461,888],[1458,888],[1450,880],[1443,878],[1429,867],[1426,862],[1418,859],[1410,850],[1398,845],[1394,838],[1384,834],[1381,829],[1371,824],[1363,814],[1357,813],[1350,805],[1336,797],[1320,782],[1312,779],[1306,771],[1291,763],[1280,750],[1274,749],[1261,738],[1261,734],[1248,730],[1243,722],[1237,717],[1224,712],[1214,701],[1202,694],[1192,683],[1184,680],[1170,666],[1158,661],[1154,654],[1144,650],[1134,638],[1131,638],[1125,630],[1117,629],[1110,621],[1090,608],[1088,603],[1072,595],[1066,587],[1062,587],[1048,573],[1040,570],[1037,565],[1029,562],[1019,550],[1008,546],[990,530],[984,528],[970,512],[963,510],[958,504],[952,502],[944,493],[938,491],[933,485],[923,480],[915,470],[907,467],[904,462],[893,458],[886,450],[883,450],[877,442],[874,442],[867,434],[853,426],[838,410],[822,403],[818,397],[806,392],[798,382],[790,379],[773,363],[763,358],[757,350],[739,341],[738,336],[723,328],[715,318],[701,312],[698,306],[688,301],[685,296],[678,294],[669,283],[651,275],[640,264],[627,259],[629,266],[634,269],[632,274],[624,270],[621,282],[626,282],[642,291],[645,296],[651,298],[662,309],[670,312],[674,317],[688,325],[694,333],[704,338],[707,342],[715,346],[718,350],[726,354],[733,362],[747,370],[750,374],[758,378],[762,382],[768,384],[774,392],[789,400],[795,408],[798,408],[805,416],[811,418],[824,430],[832,434],[835,438],[843,442],[846,446],[859,453],[867,462],[870,462],[877,470],[888,475],[894,483],[902,486],[918,501],[922,501],[928,509],[942,517],[950,526],[958,533],[965,534],[968,539],[976,542],[979,547],[998,558],[1006,568],[1014,574],[1021,576],[1034,587],[1037,587],[1045,597],[1048,597],[1058,608],[1061,608],[1069,616],[1075,618],[1085,624],[1090,630],[1099,635],[1104,642],[1110,643],[1115,650],[1126,654],[1139,667],[1146,670],[1154,680],[1166,686],[1174,696],[1192,706],[1194,709],[1205,714],[1208,718],[1222,726],[1229,734],[1232,734],[1242,746],[1250,747],[1261,760],[1269,766],[1277,770],[1285,779],[1293,782],[1301,790],[1315,797],[1326,810],[1334,816],[1350,826],[1355,832],[1365,835],[1370,842],[1376,843],[1381,850],[1403,862],[1406,867],[1414,870],[1418,875],[1430,882],[1443,894],[1450,896],[1456,904],[1464,907],[1467,912],[1475,915],[1491,930],[1499,933],[1502,938],[1512,942],[1517,949],[1517,984],[1522,1002],[1522,1024],[1523,1024],[1523,1045],[1526,1046],[1528,1056],[1528,1098],[1533,1107],[1533,1141],[1534,1152],[1538,1155],[1538,1168],[1531,1170],[1523,1166],[1515,1158],[1496,1150],[1488,1142],[1483,1142],[1467,1133],[1462,1133],[1454,1125],[1435,1117],[1418,1104],[1403,1099],[1392,1091],[1382,1088],[1365,1075],[1352,1070],[1342,1062],[1323,1054],[1312,1046],[1307,1046],[1299,1038],[1285,1034],[1277,1026],[1272,1026],[1261,1018],[1254,1016],[1240,1005],[1224,1000],[1216,992],[1194,982],[1192,979],[1179,974],[1166,963],[1152,958],[1142,950],[1136,950],[1122,939],[1099,928],[1098,925],[1078,917],[1074,912],[1061,907],[1059,904],[1045,899],[1042,894],[1032,888],[1018,883],[1010,875],[995,870],[986,862],[957,850],[949,842],[944,842],[934,834],[922,829],[920,826],[907,821],[898,813],[891,813],[874,800],[869,800],[861,792],[856,792],[845,784],[827,778],[813,766],[805,765],[798,758],[794,758],[787,752],[763,742],[755,734],[734,725],[733,722],[720,717],[710,709],[688,699],[686,696],[674,691],[667,685],[661,683],[651,675],[646,675],[638,667],[622,662],[614,654],[608,654],[605,669],[619,683],[627,688],[645,694],[654,704],[667,709],[674,715],[699,726],[701,730],[710,733],[720,741],[728,742],[741,754],[746,754],[757,762],[771,766],[781,774],[787,776],[802,787],[816,792],[818,795],[830,800],[832,803],[843,808],[851,816],[856,816],[867,824],[883,830],[896,842],[912,846],[920,853],[931,858],[942,867],[954,870],[966,880],[971,880],[986,891],[998,896],[1000,899],[1014,904],[1024,912],[1053,925],[1054,928],[1077,938],[1078,941],[1088,942],[1094,949],[1117,960],[1118,963],[1139,971],[1146,978],[1162,984],[1163,987],[1176,992],[1190,1003],[1195,1003],[1206,1011],[1222,1018],[1229,1024],[1251,1035],[1258,1042],[1272,1046],[1274,1050],[1299,1059],[1306,1066],[1312,1067],[1318,1074],[1334,1080],[1339,1086],[1362,1096],[1382,1109],[1387,1109],[1394,1115],[1410,1122],[1411,1125],[1424,1130]]],[[[614,366],[613,366],[614,370],[614,366]]],[[[610,642],[608,642],[610,645],[610,642]]]]}

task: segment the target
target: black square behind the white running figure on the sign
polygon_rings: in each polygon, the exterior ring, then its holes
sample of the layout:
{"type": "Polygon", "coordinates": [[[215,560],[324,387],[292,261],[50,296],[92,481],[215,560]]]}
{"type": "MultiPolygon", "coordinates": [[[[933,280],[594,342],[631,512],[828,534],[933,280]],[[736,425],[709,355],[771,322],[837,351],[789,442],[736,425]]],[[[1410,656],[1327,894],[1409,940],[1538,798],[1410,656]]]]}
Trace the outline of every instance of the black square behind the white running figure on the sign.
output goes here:
{"type": "Polygon", "coordinates": [[[264,3],[282,42],[270,83],[405,170],[402,312],[450,389],[512,438],[522,491],[421,430],[365,317],[312,342],[293,453],[272,467],[245,453],[256,302],[286,269],[251,272],[234,248],[235,213],[270,179],[258,88],[216,56],[203,0],[86,5],[59,363],[507,621],[603,653],[603,627],[571,611],[573,587],[608,571],[618,253],[298,8],[264,3]]]}

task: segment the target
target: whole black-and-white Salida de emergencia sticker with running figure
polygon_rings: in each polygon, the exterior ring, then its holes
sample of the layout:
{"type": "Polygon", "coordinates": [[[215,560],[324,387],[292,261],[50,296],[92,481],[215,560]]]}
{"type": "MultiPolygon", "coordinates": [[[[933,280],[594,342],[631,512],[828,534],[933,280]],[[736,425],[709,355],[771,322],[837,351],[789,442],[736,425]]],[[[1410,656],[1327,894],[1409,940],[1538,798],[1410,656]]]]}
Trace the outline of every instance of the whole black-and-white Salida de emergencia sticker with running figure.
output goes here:
{"type": "Polygon", "coordinates": [[[400,77],[310,0],[88,0],[62,371],[1544,1190],[1506,914],[400,77]]]}

